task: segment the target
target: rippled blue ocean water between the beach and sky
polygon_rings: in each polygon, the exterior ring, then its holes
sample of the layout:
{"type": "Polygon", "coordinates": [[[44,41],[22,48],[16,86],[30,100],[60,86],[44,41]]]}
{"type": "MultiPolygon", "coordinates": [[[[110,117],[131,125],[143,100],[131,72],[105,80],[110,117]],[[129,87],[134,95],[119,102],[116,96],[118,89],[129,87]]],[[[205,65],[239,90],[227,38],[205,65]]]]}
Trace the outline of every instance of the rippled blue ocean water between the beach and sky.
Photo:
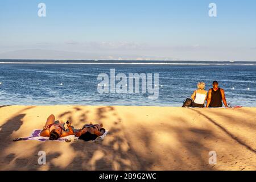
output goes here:
{"type": "Polygon", "coordinates": [[[217,80],[231,105],[256,106],[256,62],[0,60],[0,105],[181,106],[197,82],[217,80]],[[159,97],[98,93],[100,73],[159,73],[159,97]]]}

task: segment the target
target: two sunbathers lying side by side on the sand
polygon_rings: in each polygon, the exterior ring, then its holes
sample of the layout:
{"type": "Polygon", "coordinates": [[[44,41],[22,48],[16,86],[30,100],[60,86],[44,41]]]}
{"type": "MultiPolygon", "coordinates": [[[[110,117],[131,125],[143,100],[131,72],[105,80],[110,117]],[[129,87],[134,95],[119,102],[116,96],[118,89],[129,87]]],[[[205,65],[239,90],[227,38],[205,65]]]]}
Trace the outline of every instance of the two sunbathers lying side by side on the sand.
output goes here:
{"type": "Polygon", "coordinates": [[[68,135],[75,135],[79,139],[89,141],[95,140],[97,137],[105,133],[105,129],[100,125],[84,125],[82,129],[76,130],[71,127],[71,122],[66,122],[68,129],[65,130],[64,122],[55,121],[53,114],[49,115],[44,125],[43,130],[40,132],[40,136],[49,137],[50,140],[56,140],[60,137],[67,137],[68,135]]]}

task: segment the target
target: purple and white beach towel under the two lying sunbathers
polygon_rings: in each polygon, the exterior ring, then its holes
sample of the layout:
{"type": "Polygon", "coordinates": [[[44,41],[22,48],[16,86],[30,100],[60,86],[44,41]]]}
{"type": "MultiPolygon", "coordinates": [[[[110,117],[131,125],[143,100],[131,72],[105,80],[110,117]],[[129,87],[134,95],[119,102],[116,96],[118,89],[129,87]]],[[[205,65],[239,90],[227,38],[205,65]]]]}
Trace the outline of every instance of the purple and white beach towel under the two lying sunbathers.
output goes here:
{"type": "MultiPolygon", "coordinates": [[[[39,140],[41,142],[46,142],[46,141],[58,141],[58,142],[71,142],[71,141],[77,141],[79,140],[78,137],[75,135],[69,135],[67,137],[60,137],[57,140],[49,140],[49,137],[41,137],[40,134],[41,130],[34,130],[31,134],[30,137],[25,137],[25,138],[16,138],[14,141],[19,141],[19,140],[39,140]]],[[[108,130],[105,131],[103,135],[100,137],[97,137],[93,142],[100,142],[102,141],[106,135],[108,134],[108,130]]]]}

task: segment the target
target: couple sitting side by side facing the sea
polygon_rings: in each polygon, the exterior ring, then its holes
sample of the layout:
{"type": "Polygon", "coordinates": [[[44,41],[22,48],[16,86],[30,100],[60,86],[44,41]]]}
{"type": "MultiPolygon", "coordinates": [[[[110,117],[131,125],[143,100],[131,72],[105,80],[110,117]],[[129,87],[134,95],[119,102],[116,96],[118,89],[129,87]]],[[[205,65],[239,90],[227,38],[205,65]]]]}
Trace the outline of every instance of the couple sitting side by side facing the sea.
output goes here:
{"type": "Polygon", "coordinates": [[[222,101],[225,107],[228,107],[226,104],[225,92],[224,89],[218,87],[218,82],[213,81],[213,88],[209,89],[208,93],[205,90],[205,83],[199,82],[197,84],[197,90],[192,94],[192,107],[204,107],[204,102],[207,101],[206,107],[222,107],[222,101]]]}

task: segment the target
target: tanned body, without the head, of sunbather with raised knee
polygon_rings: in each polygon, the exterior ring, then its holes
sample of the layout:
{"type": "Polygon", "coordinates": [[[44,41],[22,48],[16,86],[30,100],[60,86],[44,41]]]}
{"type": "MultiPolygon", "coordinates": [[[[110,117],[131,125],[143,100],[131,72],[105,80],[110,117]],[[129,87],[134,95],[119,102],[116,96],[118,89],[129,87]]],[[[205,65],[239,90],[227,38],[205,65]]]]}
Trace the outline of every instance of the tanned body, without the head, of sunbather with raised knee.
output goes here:
{"type": "MultiPolygon", "coordinates": [[[[55,122],[55,116],[53,114],[49,115],[49,117],[47,118],[47,121],[46,121],[46,125],[44,125],[43,130],[40,133],[40,136],[49,137],[49,134],[51,133],[52,130],[55,130],[56,133],[58,133],[60,137],[67,137],[68,135],[73,135],[74,134],[74,131],[71,127],[71,122],[69,122],[67,124],[67,127],[68,127],[69,131],[64,131],[64,130],[61,129],[61,127],[58,127],[58,126],[55,126],[55,125],[52,125],[49,129],[46,129],[48,125],[50,125],[54,122],[55,122]]],[[[63,126],[62,121],[60,121],[60,126],[63,126]]]]}

